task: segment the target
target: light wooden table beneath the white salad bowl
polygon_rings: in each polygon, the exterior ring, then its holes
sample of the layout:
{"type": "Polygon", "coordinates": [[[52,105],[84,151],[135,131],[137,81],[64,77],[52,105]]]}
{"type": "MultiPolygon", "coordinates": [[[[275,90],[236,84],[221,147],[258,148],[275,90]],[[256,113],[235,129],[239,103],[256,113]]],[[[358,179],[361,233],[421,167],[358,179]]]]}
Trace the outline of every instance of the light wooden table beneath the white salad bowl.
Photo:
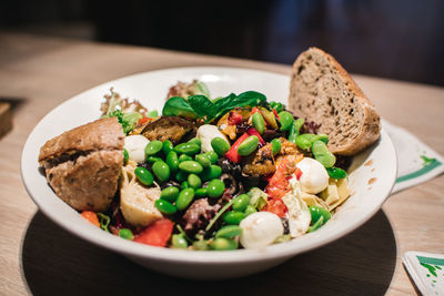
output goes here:
{"type": "MultiPolygon", "coordinates": [[[[14,124],[0,140],[0,294],[414,294],[401,256],[406,251],[444,252],[443,175],[392,195],[369,223],[333,244],[259,275],[215,283],[143,269],[73,237],[37,210],[22,185],[19,163],[28,134],[47,112],[115,78],[189,65],[231,65],[285,74],[291,69],[204,54],[0,33],[0,99],[13,102],[14,124]]],[[[362,75],[355,79],[383,118],[444,154],[444,89],[362,75]]]]}

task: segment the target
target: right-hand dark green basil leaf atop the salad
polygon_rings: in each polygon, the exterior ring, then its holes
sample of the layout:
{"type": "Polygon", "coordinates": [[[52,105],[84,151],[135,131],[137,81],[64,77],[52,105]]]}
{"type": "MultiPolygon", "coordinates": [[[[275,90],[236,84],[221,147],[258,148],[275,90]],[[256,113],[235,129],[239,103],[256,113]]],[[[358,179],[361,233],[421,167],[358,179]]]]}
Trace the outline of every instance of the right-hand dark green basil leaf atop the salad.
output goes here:
{"type": "Polygon", "coordinates": [[[231,93],[229,96],[225,96],[214,103],[215,118],[222,116],[234,108],[246,105],[256,106],[264,101],[266,101],[266,96],[255,91],[243,92],[238,96],[234,93],[231,93]]]}

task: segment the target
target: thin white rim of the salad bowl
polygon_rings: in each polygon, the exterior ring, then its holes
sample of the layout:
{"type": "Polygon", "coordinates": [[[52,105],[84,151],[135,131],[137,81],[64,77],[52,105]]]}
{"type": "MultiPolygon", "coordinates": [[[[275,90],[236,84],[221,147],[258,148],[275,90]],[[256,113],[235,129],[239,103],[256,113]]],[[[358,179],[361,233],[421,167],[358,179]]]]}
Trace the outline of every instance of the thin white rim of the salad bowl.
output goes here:
{"type": "MultiPolygon", "coordinates": [[[[154,71],[147,71],[147,72],[141,72],[141,73],[135,73],[127,76],[122,76],[112,81],[108,81],[104,83],[101,83],[97,86],[93,86],[89,90],[85,90],[53,108],[50,112],[48,112],[40,121],[39,123],[34,126],[32,132],[29,134],[22,150],[22,155],[21,155],[21,162],[20,162],[20,173],[21,173],[21,178],[24,185],[26,191],[28,192],[29,196],[32,198],[32,201],[37,204],[39,210],[47,216],[49,217],[52,222],[54,222],[57,225],[61,226],[62,228],[67,229],[71,234],[79,236],[94,245],[102,246],[107,249],[114,251],[117,253],[128,255],[131,257],[143,257],[143,258],[150,258],[150,259],[157,259],[157,261],[168,261],[168,262],[181,262],[181,263],[196,263],[196,264],[222,264],[222,265],[228,265],[232,263],[250,263],[250,262],[258,262],[258,261],[270,261],[270,259],[278,259],[278,258],[284,258],[284,257],[290,257],[294,256],[301,253],[309,252],[311,249],[317,248],[320,246],[324,246],[333,241],[336,241],[349,233],[353,232],[357,227],[362,226],[365,222],[367,222],[380,208],[382,207],[382,204],[385,202],[387,196],[390,195],[395,181],[396,181],[396,173],[397,173],[397,159],[396,159],[396,153],[395,149],[393,146],[393,143],[389,136],[389,134],[385,132],[384,127],[381,130],[381,137],[380,137],[380,143],[384,143],[389,150],[384,151],[384,153],[390,154],[390,159],[393,160],[390,166],[392,167],[392,175],[389,175],[390,184],[391,186],[385,188],[385,196],[380,197],[377,203],[371,211],[365,212],[365,215],[360,216],[359,218],[355,218],[353,223],[347,224],[346,226],[342,227],[342,231],[339,234],[335,235],[326,235],[322,239],[316,239],[314,242],[303,243],[302,245],[300,244],[301,242],[297,239],[291,239],[285,243],[281,244],[275,244],[275,245],[270,245],[264,248],[259,248],[259,249],[235,249],[235,251],[230,251],[230,252],[223,252],[223,251],[212,251],[212,252],[206,252],[206,251],[186,251],[186,249],[174,249],[174,248],[164,248],[164,247],[154,247],[154,246],[149,246],[149,245],[143,245],[134,242],[130,242],[127,239],[122,239],[118,236],[114,235],[109,235],[108,233],[103,232],[102,229],[90,225],[89,223],[80,224],[77,226],[80,227],[72,227],[73,225],[71,224],[72,222],[68,220],[63,220],[62,216],[58,215],[54,211],[51,211],[51,205],[48,202],[46,202],[44,196],[39,196],[38,193],[33,192],[31,182],[28,177],[28,169],[27,167],[27,152],[31,149],[31,141],[32,141],[32,135],[36,133],[36,131],[39,129],[41,122],[47,120],[48,118],[51,116],[51,114],[57,113],[60,109],[63,109],[64,105],[68,103],[77,100],[77,98],[87,94],[88,92],[92,92],[94,90],[101,89],[105,85],[117,83],[123,80],[131,80],[133,78],[140,76],[140,75],[145,75],[145,74],[168,74],[170,71],[203,71],[211,73],[212,71],[232,71],[232,72],[251,72],[251,73],[256,73],[256,74],[264,74],[264,75],[278,75],[281,79],[285,78],[289,79],[287,75],[276,73],[276,72],[270,72],[270,71],[264,71],[264,70],[254,70],[254,69],[248,69],[248,68],[232,68],[232,67],[183,67],[183,68],[167,68],[167,69],[161,69],[161,70],[154,70],[154,71]],[[297,246],[300,244],[300,246],[297,246]]],[[[380,144],[379,143],[379,144],[380,144]]],[[[379,145],[377,144],[377,145],[379,145]]],[[[37,162],[37,160],[34,160],[37,162]]],[[[49,186],[49,185],[47,185],[49,186]]],[[[56,196],[56,194],[54,194],[56,196]]],[[[61,202],[59,200],[59,202],[61,202]]],[[[63,202],[62,202],[63,203],[63,202]]],[[[67,207],[69,205],[65,204],[67,207]]],[[[72,208],[70,208],[72,210],[72,208]]],[[[72,210],[75,212],[74,210],[72,210]]],[[[79,221],[81,221],[80,215],[79,221]]],[[[310,237],[312,234],[305,234],[303,237],[310,237]]],[[[310,238],[309,238],[310,239],[310,238]]],[[[306,241],[306,239],[305,239],[306,241]]],[[[304,242],[305,242],[304,241],[304,242]]]]}

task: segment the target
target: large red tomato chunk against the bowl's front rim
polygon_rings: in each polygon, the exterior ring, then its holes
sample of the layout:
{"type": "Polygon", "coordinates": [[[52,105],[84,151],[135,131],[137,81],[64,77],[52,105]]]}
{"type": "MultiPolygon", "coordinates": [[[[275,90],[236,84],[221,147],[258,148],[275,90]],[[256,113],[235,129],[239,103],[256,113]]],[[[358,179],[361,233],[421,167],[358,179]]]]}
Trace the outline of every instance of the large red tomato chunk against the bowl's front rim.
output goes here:
{"type": "Polygon", "coordinates": [[[133,239],[134,242],[164,247],[173,232],[173,223],[169,218],[161,218],[148,226],[133,239]]]}

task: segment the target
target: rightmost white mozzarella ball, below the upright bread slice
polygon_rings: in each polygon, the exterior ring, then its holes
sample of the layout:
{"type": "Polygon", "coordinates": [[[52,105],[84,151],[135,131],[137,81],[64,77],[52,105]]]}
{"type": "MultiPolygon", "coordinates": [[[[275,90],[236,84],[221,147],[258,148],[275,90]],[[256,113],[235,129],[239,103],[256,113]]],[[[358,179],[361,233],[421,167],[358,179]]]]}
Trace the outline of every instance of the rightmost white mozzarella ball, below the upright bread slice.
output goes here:
{"type": "MultiPolygon", "coordinates": [[[[296,164],[302,175],[299,180],[301,190],[305,193],[317,194],[329,186],[329,173],[316,160],[305,157],[296,164]]],[[[293,181],[296,176],[293,176],[293,181]]]]}

